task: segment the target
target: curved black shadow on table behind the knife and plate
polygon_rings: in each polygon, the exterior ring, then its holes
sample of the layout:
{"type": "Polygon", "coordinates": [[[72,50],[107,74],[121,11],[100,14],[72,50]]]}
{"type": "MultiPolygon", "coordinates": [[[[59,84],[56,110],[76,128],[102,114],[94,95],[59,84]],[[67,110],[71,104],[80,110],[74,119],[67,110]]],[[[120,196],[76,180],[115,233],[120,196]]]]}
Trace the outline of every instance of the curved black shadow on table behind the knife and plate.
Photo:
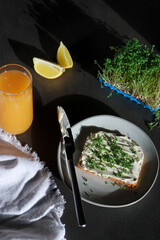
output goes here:
{"type": "Polygon", "coordinates": [[[95,115],[116,115],[111,108],[96,99],[71,95],[59,98],[46,106],[35,107],[34,121],[31,127],[31,141],[33,149],[38,153],[41,161],[59,178],[57,168],[57,149],[61,139],[57,118],[57,106],[62,106],[70,120],[75,123],[95,115]]]}

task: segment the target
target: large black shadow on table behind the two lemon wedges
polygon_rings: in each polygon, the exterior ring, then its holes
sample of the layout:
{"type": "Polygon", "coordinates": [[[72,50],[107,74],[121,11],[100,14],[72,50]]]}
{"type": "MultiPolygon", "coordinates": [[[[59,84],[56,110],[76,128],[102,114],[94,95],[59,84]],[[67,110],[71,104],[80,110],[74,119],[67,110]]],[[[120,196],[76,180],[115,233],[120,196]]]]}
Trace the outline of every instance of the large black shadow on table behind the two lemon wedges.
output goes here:
{"type": "Polygon", "coordinates": [[[73,60],[94,76],[97,75],[94,61],[103,64],[113,54],[109,46],[122,44],[115,29],[96,21],[74,1],[32,0],[28,1],[26,12],[35,23],[49,59],[55,60],[59,42],[63,41],[73,60]]]}

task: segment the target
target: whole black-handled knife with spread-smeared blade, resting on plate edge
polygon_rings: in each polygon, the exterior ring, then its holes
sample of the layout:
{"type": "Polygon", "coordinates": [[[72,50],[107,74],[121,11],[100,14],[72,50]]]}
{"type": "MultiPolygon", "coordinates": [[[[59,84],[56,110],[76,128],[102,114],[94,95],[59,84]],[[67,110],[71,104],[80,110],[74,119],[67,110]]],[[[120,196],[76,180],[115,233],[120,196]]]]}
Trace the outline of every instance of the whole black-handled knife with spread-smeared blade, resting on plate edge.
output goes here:
{"type": "Polygon", "coordinates": [[[78,225],[80,227],[86,227],[86,221],[85,221],[85,216],[83,212],[77,176],[76,176],[75,167],[73,163],[73,154],[75,152],[75,146],[74,146],[71,126],[70,126],[67,114],[61,106],[57,107],[57,113],[58,113],[58,121],[60,124],[60,130],[62,133],[62,139],[65,145],[66,156],[68,159],[69,173],[71,178],[73,199],[74,199],[78,225]]]}

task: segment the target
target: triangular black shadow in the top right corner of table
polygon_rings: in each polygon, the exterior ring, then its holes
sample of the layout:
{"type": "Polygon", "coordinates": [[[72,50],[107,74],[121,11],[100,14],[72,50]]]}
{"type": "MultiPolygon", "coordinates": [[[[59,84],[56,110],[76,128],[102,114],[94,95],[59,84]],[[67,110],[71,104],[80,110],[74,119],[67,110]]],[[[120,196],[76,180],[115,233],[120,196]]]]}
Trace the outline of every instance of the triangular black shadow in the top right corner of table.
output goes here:
{"type": "Polygon", "coordinates": [[[135,0],[130,2],[124,0],[122,3],[121,1],[104,0],[104,2],[148,42],[156,45],[158,51],[160,50],[160,33],[157,31],[160,22],[158,1],[135,0]]]}

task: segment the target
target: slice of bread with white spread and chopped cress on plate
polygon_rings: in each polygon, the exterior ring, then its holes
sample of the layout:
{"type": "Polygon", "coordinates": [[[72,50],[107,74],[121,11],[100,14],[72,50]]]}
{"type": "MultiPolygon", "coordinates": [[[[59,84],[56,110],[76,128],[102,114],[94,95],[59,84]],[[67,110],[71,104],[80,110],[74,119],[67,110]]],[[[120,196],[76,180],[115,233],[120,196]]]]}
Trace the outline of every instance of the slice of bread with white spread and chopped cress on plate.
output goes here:
{"type": "Polygon", "coordinates": [[[143,149],[135,141],[126,136],[99,131],[87,137],[77,167],[128,187],[135,187],[143,161],[143,149]]]}

